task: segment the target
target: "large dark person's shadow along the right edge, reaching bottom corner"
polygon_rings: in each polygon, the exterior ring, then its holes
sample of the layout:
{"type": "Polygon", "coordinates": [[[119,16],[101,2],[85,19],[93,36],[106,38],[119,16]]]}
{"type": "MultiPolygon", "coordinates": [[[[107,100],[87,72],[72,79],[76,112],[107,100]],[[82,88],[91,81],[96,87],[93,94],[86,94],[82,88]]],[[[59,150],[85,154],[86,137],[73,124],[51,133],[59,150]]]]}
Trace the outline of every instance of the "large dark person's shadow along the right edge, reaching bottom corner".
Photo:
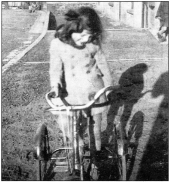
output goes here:
{"type": "Polygon", "coordinates": [[[168,72],[163,73],[152,90],[152,97],[163,95],[136,180],[168,180],[168,72]]]}

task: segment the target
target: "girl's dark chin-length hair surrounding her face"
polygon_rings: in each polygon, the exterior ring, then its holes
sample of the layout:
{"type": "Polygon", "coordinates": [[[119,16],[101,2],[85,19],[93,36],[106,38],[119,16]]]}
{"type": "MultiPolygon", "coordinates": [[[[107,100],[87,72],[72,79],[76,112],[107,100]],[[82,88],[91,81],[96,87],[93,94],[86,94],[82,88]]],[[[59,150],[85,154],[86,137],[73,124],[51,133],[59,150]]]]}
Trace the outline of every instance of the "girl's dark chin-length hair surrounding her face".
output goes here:
{"type": "Polygon", "coordinates": [[[57,27],[55,37],[61,41],[73,44],[71,34],[81,33],[84,29],[93,35],[90,42],[100,45],[102,41],[102,23],[94,9],[80,7],[77,10],[69,10],[65,14],[66,23],[57,27]]]}

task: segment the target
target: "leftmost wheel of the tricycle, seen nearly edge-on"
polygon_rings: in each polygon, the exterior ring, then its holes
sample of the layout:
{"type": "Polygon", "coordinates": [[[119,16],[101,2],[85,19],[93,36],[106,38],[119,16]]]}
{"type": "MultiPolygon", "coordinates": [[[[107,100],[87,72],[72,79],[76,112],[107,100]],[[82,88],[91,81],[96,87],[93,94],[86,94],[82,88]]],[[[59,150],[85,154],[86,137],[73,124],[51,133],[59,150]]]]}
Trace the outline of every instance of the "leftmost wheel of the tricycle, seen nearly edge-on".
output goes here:
{"type": "Polygon", "coordinates": [[[49,137],[46,124],[42,124],[35,135],[37,154],[37,180],[43,181],[47,175],[47,165],[50,157],[49,137]]]}

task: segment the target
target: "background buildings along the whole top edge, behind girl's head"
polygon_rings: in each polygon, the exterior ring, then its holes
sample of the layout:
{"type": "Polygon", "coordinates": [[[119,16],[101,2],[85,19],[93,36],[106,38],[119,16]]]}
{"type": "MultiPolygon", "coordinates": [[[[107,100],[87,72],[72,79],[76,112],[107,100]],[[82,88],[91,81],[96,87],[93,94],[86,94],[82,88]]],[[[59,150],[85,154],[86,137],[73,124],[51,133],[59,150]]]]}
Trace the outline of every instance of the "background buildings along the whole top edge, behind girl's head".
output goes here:
{"type": "MultiPolygon", "coordinates": [[[[10,7],[27,9],[31,1],[25,2],[2,2],[8,3],[10,7]]],[[[58,14],[64,14],[69,8],[79,6],[91,6],[102,12],[103,15],[109,16],[114,21],[122,22],[134,28],[158,29],[159,21],[155,18],[160,2],[148,1],[110,1],[110,2],[40,2],[40,7],[47,6],[49,11],[58,11],[58,14]]],[[[7,5],[6,5],[7,7],[7,5]]]]}

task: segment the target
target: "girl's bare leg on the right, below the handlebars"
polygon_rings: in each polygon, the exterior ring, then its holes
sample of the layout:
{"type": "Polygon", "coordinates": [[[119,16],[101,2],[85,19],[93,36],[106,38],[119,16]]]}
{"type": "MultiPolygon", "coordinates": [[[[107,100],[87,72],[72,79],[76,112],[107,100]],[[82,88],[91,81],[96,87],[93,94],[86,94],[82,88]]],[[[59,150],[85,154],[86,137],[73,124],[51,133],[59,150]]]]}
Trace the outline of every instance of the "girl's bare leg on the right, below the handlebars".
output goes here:
{"type": "Polygon", "coordinates": [[[101,121],[102,121],[102,113],[96,114],[93,116],[94,121],[94,139],[95,139],[95,147],[96,151],[101,150],[101,121]]]}

